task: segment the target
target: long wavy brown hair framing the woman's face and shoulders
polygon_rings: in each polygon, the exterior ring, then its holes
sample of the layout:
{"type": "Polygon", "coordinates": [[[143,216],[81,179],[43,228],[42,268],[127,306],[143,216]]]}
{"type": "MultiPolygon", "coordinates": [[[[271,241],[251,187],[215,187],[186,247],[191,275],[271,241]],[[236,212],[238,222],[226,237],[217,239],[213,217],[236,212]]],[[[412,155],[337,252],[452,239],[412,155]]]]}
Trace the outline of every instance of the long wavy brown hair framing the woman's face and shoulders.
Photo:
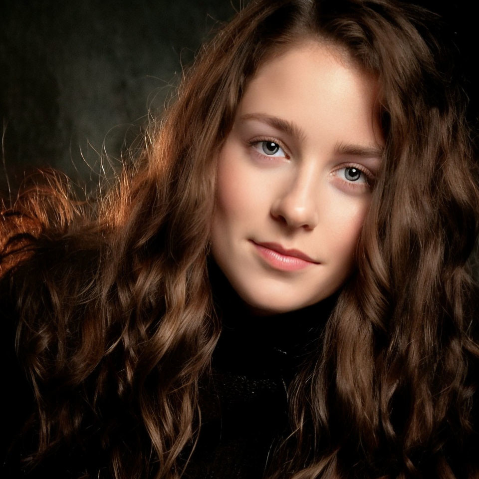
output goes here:
{"type": "Polygon", "coordinates": [[[216,156],[261,62],[317,38],[378,77],[386,146],[357,270],[290,386],[269,477],[479,476],[478,164],[437,24],[392,0],[253,0],[114,187],[81,203],[45,172],[5,208],[1,295],[35,395],[25,470],[66,444],[91,458],[85,478],[181,475],[220,333],[216,156]]]}

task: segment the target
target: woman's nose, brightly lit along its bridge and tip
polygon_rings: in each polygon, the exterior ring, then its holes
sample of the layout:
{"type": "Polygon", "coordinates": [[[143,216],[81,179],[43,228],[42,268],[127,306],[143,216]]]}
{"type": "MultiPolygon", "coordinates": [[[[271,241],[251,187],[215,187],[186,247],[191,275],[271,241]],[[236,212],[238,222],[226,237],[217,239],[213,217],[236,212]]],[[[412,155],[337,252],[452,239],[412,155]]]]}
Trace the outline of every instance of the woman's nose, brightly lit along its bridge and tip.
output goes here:
{"type": "Polygon", "coordinates": [[[271,205],[271,216],[291,229],[313,230],[319,222],[317,181],[311,172],[298,175],[280,190],[271,205]]]}

